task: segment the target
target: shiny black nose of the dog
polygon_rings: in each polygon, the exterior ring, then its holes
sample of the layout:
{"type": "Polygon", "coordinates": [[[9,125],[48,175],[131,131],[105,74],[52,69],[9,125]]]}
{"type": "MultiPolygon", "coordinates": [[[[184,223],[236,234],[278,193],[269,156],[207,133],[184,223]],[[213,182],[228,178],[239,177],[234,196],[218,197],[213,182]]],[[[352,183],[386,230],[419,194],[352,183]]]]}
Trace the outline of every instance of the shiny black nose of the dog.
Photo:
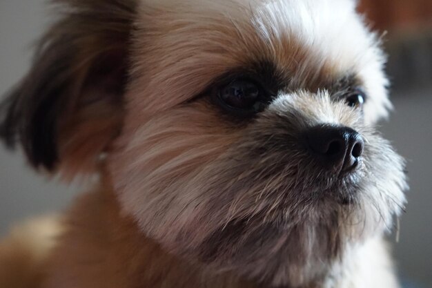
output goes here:
{"type": "Polygon", "coordinates": [[[342,172],[357,166],[364,146],[362,136],[344,126],[315,126],[306,132],[306,142],[326,169],[342,172]]]}

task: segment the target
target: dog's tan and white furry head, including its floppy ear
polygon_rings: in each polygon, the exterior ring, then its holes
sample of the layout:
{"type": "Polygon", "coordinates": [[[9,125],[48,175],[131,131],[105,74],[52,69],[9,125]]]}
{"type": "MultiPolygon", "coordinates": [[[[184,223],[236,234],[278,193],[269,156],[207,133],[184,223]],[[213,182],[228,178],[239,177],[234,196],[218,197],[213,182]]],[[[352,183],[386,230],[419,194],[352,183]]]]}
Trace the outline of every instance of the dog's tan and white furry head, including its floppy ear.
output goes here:
{"type": "MultiPolygon", "coordinates": [[[[28,80],[37,88],[12,95],[3,134],[21,133],[32,164],[76,173],[103,161],[124,212],[162,247],[275,286],[322,280],[391,227],[403,161],[373,128],[390,106],[384,57],[354,1],[75,2],[93,18],[93,4],[115,8],[117,26],[68,15],[81,56],[66,59],[82,77],[63,68],[58,85],[28,80]],[[55,137],[40,143],[38,109],[19,107],[46,86],[75,112],[42,116],[55,137]]],[[[52,93],[39,110],[59,109],[52,93]]]]}

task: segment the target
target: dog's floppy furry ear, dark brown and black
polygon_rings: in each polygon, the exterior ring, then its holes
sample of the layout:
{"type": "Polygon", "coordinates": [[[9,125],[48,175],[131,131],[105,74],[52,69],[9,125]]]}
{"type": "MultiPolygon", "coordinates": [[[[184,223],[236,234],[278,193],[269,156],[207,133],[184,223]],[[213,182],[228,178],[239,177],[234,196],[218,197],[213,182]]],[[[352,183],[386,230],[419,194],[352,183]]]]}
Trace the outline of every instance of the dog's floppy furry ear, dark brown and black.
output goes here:
{"type": "Polygon", "coordinates": [[[94,171],[119,133],[135,0],[56,0],[61,17],[1,104],[0,136],[30,164],[94,171]]]}

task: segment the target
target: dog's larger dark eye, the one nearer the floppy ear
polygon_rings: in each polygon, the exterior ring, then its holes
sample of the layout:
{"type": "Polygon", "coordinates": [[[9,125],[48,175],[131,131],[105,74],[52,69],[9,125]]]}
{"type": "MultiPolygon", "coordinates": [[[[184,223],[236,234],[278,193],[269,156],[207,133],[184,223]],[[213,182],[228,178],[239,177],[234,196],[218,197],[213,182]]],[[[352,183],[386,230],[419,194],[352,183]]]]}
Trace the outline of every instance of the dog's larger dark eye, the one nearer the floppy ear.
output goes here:
{"type": "Polygon", "coordinates": [[[225,108],[235,111],[258,112],[264,106],[262,89],[251,80],[231,81],[219,88],[217,97],[225,108]]]}

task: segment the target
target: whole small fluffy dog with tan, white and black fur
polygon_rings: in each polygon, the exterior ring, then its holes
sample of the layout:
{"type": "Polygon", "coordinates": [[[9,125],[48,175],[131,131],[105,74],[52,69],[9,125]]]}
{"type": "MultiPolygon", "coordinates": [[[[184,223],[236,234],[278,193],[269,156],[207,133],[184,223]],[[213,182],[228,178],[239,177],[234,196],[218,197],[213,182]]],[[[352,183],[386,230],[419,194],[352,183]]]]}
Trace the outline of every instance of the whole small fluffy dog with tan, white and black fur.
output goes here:
{"type": "Polygon", "coordinates": [[[1,287],[398,287],[381,39],[353,0],[56,0],[1,137],[92,189],[1,287]]]}

